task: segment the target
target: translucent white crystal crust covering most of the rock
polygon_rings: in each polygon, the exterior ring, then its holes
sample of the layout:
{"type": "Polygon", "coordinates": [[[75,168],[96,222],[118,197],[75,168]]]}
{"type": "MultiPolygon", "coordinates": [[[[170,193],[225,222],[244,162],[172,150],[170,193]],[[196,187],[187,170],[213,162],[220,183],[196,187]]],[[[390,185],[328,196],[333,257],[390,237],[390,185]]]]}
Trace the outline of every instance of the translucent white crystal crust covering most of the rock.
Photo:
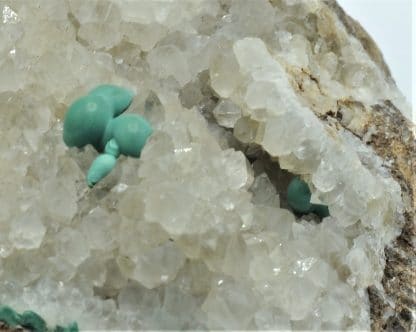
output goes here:
{"type": "Polygon", "coordinates": [[[0,1],[0,304],[83,330],[369,328],[400,189],[289,73],[334,99],[395,90],[335,17],[331,46],[322,3],[272,2],[0,1]],[[101,83],[155,131],[87,190],[95,152],[62,120],[101,83]],[[295,217],[283,170],[331,217],[295,217]]]}

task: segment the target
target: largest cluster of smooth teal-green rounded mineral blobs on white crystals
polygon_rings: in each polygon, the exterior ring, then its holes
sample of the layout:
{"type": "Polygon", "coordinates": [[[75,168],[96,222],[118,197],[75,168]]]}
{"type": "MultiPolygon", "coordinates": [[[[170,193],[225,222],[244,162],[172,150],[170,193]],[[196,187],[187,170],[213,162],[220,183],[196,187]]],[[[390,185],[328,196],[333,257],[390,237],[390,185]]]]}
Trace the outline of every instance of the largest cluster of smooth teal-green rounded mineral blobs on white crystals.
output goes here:
{"type": "Polygon", "coordinates": [[[67,146],[91,144],[101,153],[92,163],[87,183],[93,187],[115,167],[120,154],[139,158],[153,130],[137,114],[123,114],[133,93],[114,85],[100,85],[77,99],[65,114],[63,139],[67,146]]]}

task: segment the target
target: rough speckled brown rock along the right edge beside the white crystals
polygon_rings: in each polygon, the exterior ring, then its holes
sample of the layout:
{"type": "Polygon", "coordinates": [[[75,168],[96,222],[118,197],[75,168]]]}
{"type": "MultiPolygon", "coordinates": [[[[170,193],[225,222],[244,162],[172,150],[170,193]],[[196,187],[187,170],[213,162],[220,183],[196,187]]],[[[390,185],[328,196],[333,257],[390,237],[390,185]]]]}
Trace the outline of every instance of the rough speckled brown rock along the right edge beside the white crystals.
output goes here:
{"type": "Polygon", "coordinates": [[[377,132],[368,144],[384,160],[392,160],[391,174],[400,184],[405,202],[403,213],[405,224],[393,244],[386,247],[386,266],[382,285],[387,296],[394,302],[394,308],[383,301],[380,294],[368,289],[372,329],[376,331],[415,331],[416,315],[416,226],[415,188],[416,168],[415,137],[411,124],[393,103],[385,101],[374,105],[367,125],[376,127],[377,132]],[[389,310],[394,313],[388,315],[389,310]]]}

